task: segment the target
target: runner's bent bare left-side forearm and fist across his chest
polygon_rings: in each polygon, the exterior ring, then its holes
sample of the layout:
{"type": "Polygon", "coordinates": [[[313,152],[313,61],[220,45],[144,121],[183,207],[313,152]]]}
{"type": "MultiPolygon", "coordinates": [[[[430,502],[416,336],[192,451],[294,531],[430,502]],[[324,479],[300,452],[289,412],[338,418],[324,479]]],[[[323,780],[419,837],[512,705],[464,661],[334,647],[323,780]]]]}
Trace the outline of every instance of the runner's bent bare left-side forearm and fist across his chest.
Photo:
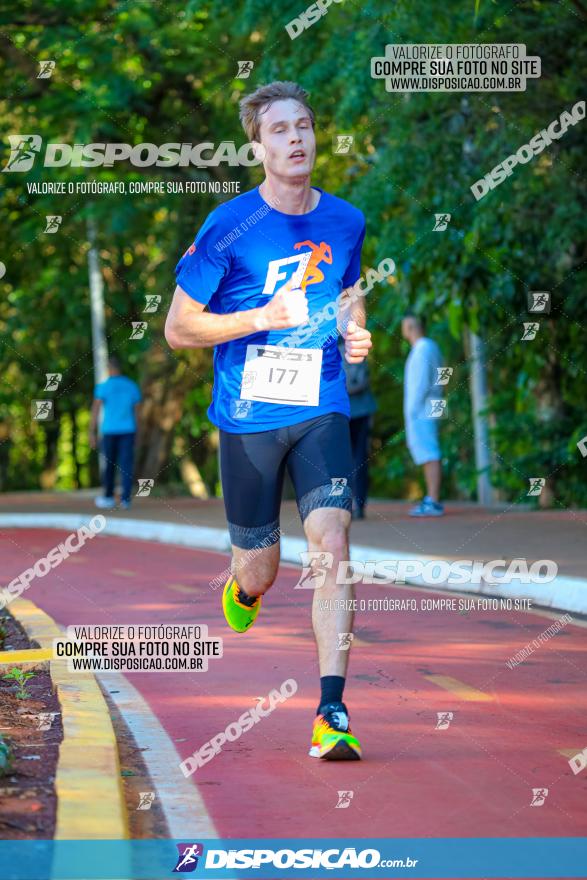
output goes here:
{"type": "Polygon", "coordinates": [[[165,322],[165,338],[171,348],[208,348],[264,330],[283,330],[308,320],[306,297],[284,285],[266,306],[227,315],[205,312],[179,285],[165,322]]]}

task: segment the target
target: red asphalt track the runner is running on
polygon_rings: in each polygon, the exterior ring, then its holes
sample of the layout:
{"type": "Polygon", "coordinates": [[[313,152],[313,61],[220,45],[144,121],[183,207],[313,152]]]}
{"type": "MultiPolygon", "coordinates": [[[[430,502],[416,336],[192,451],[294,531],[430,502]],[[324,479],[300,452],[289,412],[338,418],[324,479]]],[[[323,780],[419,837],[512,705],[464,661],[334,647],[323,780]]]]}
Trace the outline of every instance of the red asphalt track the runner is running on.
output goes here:
{"type": "MultiPolygon", "coordinates": [[[[66,537],[6,530],[2,583],[66,537]]],[[[228,557],[99,536],[24,594],[59,624],[200,623],[224,640],[202,673],[128,679],[182,758],[293,678],[297,693],[192,777],[224,837],[573,837],[587,833],[587,643],[568,625],[514,669],[506,661],[552,623],[521,612],[359,612],[345,699],[365,760],[307,757],[318,696],[309,590],[281,569],[253,629],[224,623],[209,582],[228,557]],[[446,690],[429,675],[455,679],[446,690]],[[466,700],[458,683],[486,699],[466,700]],[[454,690],[456,688],[456,690],[454,690]],[[454,718],[436,730],[437,712],[454,718]],[[559,750],[568,750],[568,756],[559,750]],[[533,788],[548,788],[541,807],[533,788]],[[353,791],[337,809],[338,791],[353,791]]],[[[360,598],[417,589],[359,585],[360,598]]],[[[474,695],[479,696],[474,693],[474,695]]],[[[169,768],[180,776],[179,767],[169,768]]]]}

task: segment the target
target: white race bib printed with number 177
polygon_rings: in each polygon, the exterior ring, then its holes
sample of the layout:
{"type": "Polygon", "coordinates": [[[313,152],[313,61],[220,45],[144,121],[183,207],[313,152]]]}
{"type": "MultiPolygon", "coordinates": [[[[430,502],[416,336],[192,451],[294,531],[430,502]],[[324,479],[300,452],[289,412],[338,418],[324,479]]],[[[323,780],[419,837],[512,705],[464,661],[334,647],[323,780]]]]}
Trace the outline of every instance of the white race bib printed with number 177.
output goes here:
{"type": "Polygon", "coordinates": [[[321,348],[247,345],[241,400],[318,406],[321,372],[321,348]]]}

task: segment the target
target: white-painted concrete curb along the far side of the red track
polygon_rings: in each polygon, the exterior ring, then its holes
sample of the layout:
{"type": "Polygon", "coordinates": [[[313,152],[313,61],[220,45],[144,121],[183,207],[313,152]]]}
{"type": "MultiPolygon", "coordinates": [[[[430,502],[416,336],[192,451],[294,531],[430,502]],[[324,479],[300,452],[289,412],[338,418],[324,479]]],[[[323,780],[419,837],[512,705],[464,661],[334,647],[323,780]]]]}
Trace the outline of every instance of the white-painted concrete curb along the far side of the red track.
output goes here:
{"type": "MultiPolygon", "coordinates": [[[[104,512],[105,514],[106,512],[104,512]]],[[[75,530],[88,524],[88,515],[77,513],[21,513],[0,514],[0,526],[5,528],[56,528],[75,530]]],[[[140,541],[159,541],[163,544],[175,544],[183,547],[194,547],[230,553],[230,537],[227,529],[210,528],[207,526],[177,525],[160,520],[139,520],[116,517],[106,518],[106,527],[101,534],[114,535],[121,538],[133,538],[140,541]]],[[[300,565],[300,553],[306,550],[303,538],[283,538],[281,542],[281,558],[284,562],[300,565]]],[[[376,561],[381,564],[381,557],[394,561],[417,560],[423,564],[433,562],[454,562],[454,559],[431,559],[418,554],[408,555],[392,549],[370,547],[354,544],[351,547],[351,561],[376,561]]],[[[488,560],[485,560],[488,561],[488,560]]],[[[377,565],[375,567],[377,573],[377,565]]],[[[549,583],[522,584],[512,581],[511,584],[425,584],[420,577],[406,579],[413,586],[426,586],[427,589],[449,592],[472,593],[482,596],[495,596],[509,599],[530,599],[535,605],[543,608],[569,611],[573,614],[587,615],[587,579],[559,575],[549,583]]],[[[9,607],[12,607],[12,603],[9,607]]]]}

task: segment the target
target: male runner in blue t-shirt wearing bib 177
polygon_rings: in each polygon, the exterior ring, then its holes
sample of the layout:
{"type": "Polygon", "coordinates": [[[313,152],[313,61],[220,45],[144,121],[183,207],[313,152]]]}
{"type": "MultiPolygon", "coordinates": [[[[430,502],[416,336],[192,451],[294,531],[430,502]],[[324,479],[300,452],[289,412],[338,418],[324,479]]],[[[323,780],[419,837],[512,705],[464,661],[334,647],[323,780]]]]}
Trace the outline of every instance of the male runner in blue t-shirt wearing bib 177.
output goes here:
{"type": "Polygon", "coordinates": [[[309,551],[332,554],[312,607],[321,695],[310,754],[358,759],[342,701],[349,652],[338,649],[352,632],[354,587],[336,584],[338,562],[349,558],[352,470],[337,324],[347,361],[360,363],[371,347],[355,290],[365,220],[310,185],[316,141],[304,89],[263,86],[241,101],[240,117],[265,179],[212,211],[179,261],[165,336],[172,348],[214,346],[208,415],[220,429],[238,576],[224,588],[226,620],[247,630],[277,576],[287,467],[309,551]]]}

